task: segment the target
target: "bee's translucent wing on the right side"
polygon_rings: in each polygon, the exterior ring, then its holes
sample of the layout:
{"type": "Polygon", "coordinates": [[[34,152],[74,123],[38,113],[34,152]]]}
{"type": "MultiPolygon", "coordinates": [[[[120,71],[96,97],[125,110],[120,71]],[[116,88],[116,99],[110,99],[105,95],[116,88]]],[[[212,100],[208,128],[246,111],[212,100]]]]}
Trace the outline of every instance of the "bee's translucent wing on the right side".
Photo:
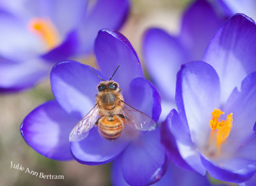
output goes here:
{"type": "Polygon", "coordinates": [[[129,124],[130,127],[137,130],[154,130],[156,128],[156,123],[149,116],[140,112],[130,105],[125,104],[121,101],[122,113],[125,116],[125,123],[129,124]]]}

